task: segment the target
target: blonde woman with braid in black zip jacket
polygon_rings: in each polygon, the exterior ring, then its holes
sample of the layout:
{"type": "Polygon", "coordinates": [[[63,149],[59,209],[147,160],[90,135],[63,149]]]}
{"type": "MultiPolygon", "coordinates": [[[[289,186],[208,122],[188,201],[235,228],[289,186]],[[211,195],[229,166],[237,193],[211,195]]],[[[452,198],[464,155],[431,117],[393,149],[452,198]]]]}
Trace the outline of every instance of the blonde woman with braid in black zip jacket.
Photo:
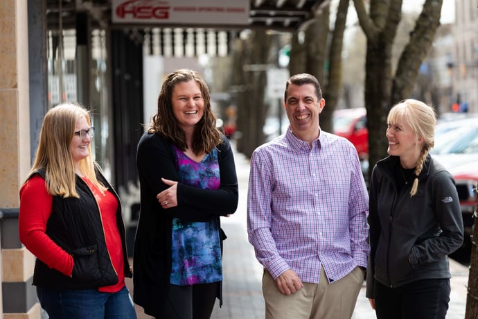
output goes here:
{"type": "Polygon", "coordinates": [[[448,255],[463,242],[463,221],[452,175],[429,154],[435,123],[434,109],[412,99],[387,118],[389,156],[370,184],[366,297],[378,319],[439,319],[448,310],[448,255]]]}

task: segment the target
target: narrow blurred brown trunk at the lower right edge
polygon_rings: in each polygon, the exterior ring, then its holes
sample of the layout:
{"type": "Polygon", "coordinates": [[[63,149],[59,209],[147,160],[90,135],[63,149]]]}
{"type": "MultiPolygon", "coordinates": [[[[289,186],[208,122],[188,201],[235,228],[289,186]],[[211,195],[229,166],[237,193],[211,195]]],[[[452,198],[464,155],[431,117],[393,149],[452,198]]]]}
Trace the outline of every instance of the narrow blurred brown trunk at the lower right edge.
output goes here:
{"type": "Polygon", "coordinates": [[[465,319],[478,318],[478,192],[475,188],[477,206],[475,207],[475,222],[471,237],[470,273],[468,274],[468,294],[466,295],[465,319]]]}

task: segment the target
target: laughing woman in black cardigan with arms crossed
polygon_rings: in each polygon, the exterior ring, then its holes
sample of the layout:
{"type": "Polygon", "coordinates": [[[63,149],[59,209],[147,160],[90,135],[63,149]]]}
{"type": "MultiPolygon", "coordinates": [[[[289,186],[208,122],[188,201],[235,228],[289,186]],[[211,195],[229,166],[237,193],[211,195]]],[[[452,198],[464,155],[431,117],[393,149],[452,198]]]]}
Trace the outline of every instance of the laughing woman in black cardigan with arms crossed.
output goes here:
{"type": "Polygon", "coordinates": [[[238,181],[210,101],[197,72],[172,72],[138,144],[133,295],[156,318],[210,318],[215,299],[222,304],[220,216],[236,211],[238,181]]]}

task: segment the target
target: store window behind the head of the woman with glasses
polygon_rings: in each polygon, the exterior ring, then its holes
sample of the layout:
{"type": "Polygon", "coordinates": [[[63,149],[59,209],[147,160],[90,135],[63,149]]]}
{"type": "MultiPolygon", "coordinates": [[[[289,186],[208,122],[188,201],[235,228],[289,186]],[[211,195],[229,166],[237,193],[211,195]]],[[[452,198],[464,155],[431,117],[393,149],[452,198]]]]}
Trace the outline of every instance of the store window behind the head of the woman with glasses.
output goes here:
{"type": "Polygon", "coordinates": [[[112,112],[108,96],[107,33],[93,29],[90,32],[87,56],[78,50],[75,29],[48,30],[47,33],[48,108],[66,101],[82,103],[91,110],[95,126],[92,149],[95,160],[102,166],[108,180],[112,178],[110,141],[112,112]],[[82,68],[87,65],[86,72],[82,68]],[[84,77],[87,77],[85,80],[84,77]],[[82,88],[82,83],[88,87],[82,88]],[[85,92],[87,96],[85,95],[85,92]]]}

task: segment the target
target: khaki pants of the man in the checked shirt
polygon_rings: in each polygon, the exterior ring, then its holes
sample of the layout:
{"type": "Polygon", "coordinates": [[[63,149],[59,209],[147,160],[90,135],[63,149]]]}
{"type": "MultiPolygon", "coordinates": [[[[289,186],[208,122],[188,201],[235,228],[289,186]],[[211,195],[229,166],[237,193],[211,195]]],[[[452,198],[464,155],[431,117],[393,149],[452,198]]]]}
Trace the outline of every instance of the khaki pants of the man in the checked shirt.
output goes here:
{"type": "Polygon", "coordinates": [[[359,267],[332,284],[328,283],[324,268],[320,268],[319,284],[303,282],[303,288],[296,293],[283,295],[264,270],[265,319],[351,318],[363,282],[364,271],[359,267]]]}

